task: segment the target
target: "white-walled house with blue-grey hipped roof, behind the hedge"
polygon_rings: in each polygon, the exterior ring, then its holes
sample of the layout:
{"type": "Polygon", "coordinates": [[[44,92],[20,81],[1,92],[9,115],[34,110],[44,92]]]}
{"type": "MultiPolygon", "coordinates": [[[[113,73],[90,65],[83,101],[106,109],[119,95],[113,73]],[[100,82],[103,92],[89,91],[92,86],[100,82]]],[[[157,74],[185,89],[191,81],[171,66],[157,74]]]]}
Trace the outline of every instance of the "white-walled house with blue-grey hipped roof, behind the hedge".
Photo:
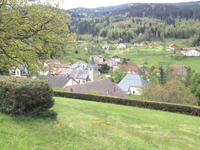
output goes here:
{"type": "Polygon", "coordinates": [[[140,88],[149,84],[138,74],[127,74],[118,84],[127,94],[140,95],[140,88]]]}

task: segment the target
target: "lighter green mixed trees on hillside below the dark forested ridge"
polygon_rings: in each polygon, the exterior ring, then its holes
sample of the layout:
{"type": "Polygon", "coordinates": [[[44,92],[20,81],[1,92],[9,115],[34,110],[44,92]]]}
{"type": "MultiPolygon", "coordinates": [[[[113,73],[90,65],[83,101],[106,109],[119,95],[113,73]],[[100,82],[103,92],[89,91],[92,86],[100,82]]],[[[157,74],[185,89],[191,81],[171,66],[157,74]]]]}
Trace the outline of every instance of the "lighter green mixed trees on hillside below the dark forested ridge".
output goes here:
{"type": "MultiPolygon", "coordinates": [[[[172,20],[172,18],[171,18],[172,20]]],[[[189,39],[191,46],[198,46],[200,43],[200,23],[195,19],[173,19],[173,24],[167,24],[157,19],[131,18],[128,21],[113,23],[113,17],[103,19],[84,20],[78,25],[71,26],[72,32],[77,34],[92,34],[113,39],[124,39],[126,42],[135,43],[141,40],[152,41],[165,38],[189,39]],[[103,22],[102,22],[103,21],[103,22]]]]}

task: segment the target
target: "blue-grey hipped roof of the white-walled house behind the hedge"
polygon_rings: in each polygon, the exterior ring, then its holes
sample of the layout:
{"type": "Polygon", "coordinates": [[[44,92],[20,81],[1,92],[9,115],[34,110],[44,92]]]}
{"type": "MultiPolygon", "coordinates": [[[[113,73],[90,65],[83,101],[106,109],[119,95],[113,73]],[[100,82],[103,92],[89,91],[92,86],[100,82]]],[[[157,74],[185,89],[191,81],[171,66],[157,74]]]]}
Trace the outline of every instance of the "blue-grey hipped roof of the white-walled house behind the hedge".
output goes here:
{"type": "Polygon", "coordinates": [[[138,74],[127,74],[118,84],[123,91],[127,92],[129,87],[144,87],[149,84],[138,74]]]}

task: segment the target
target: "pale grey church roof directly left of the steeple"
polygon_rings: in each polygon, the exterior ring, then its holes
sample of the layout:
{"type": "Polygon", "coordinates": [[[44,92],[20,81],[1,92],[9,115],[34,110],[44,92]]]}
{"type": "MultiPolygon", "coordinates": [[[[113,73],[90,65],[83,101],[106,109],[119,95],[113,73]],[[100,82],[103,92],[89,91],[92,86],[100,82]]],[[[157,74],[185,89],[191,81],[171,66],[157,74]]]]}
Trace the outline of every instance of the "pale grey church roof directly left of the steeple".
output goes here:
{"type": "Polygon", "coordinates": [[[88,70],[65,69],[59,76],[68,76],[75,79],[86,79],[88,77],[88,70]]]}

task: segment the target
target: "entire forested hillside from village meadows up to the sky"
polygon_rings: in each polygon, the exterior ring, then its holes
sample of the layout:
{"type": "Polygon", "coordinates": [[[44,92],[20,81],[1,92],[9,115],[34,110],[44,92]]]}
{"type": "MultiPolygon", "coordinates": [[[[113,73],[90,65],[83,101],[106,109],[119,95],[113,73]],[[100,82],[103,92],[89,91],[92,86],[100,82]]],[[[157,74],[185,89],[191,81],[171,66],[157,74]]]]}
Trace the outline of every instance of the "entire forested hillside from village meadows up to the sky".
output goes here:
{"type": "Polygon", "coordinates": [[[97,9],[84,11],[83,8],[67,10],[71,14],[70,31],[77,33],[78,39],[85,40],[81,36],[83,34],[106,39],[121,38],[131,43],[184,38],[190,39],[191,46],[200,45],[200,1],[176,4],[134,3],[119,8],[105,7],[106,11],[98,9],[99,12],[97,9]]]}

